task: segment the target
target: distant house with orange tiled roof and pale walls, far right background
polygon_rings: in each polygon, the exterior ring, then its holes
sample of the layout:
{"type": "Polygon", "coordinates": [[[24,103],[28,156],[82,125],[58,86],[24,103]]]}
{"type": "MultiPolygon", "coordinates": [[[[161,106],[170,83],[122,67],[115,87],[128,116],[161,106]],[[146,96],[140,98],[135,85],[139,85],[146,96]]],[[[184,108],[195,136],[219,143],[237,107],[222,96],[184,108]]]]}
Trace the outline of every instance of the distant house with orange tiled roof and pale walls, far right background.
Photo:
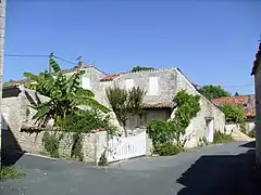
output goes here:
{"type": "MultiPolygon", "coordinates": [[[[246,115],[246,130],[251,131],[256,127],[256,101],[254,95],[223,96],[211,100],[217,107],[224,104],[234,104],[241,106],[246,115]]],[[[226,130],[239,128],[239,125],[226,122],[226,130]]]]}

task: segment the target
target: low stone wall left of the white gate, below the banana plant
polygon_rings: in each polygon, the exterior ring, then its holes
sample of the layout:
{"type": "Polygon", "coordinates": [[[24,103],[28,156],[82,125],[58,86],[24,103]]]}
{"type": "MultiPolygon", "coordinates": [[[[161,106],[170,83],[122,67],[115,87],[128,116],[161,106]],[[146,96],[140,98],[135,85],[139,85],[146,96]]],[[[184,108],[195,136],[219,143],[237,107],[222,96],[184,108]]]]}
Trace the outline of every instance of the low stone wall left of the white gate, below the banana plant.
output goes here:
{"type": "MultiPolygon", "coordinates": [[[[73,133],[62,133],[59,131],[48,131],[50,134],[54,134],[62,139],[59,144],[59,156],[61,158],[70,159],[73,146],[73,133]]],[[[20,132],[16,139],[10,130],[3,131],[4,144],[3,148],[5,151],[21,151],[34,154],[47,154],[44,147],[42,138],[45,131],[40,132],[20,132]]],[[[87,164],[98,164],[101,154],[105,150],[107,144],[107,132],[96,132],[96,133],[83,133],[82,134],[82,153],[84,155],[84,162],[87,164]]]]}

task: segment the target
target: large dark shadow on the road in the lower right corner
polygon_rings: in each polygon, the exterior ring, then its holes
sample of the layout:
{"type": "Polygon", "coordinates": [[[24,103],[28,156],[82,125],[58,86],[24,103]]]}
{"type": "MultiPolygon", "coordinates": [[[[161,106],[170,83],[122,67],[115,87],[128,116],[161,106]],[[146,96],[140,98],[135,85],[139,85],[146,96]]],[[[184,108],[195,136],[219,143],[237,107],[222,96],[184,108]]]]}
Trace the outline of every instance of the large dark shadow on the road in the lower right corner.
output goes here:
{"type": "Polygon", "coordinates": [[[260,194],[260,179],[254,168],[254,150],[235,156],[202,156],[177,180],[185,186],[178,195],[260,194]]]}

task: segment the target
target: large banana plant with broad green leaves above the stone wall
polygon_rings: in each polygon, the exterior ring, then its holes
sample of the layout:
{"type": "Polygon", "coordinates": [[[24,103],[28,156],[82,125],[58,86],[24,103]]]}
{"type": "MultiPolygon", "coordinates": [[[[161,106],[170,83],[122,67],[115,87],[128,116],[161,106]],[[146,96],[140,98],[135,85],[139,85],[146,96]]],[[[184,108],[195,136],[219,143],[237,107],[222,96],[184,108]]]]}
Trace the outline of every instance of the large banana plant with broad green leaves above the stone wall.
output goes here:
{"type": "Polygon", "coordinates": [[[84,70],[79,70],[67,78],[61,73],[59,64],[53,58],[50,58],[49,63],[54,74],[48,72],[39,75],[24,73],[24,76],[30,81],[26,86],[27,88],[50,98],[48,102],[35,106],[37,113],[33,119],[47,120],[53,118],[57,123],[59,119],[65,118],[77,106],[88,106],[103,113],[110,112],[109,108],[95,100],[95,94],[90,90],[80,87],[79,80],[85,73],[84,70]]]}

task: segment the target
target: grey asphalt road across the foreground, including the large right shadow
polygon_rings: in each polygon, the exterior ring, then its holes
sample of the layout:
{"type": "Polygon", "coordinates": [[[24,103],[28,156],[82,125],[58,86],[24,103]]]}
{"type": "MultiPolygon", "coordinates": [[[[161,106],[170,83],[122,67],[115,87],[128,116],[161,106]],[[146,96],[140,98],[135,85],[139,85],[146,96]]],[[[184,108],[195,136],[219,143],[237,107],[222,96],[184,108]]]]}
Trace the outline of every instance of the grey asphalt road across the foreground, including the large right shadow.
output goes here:
{"type": "Polygon", "coordinates": [[[108,168],[24,155],[16,165],[26,178],[0,182],[0,195],[260,194],[252,145],[243,144],[136,158],[108,168]]]}

